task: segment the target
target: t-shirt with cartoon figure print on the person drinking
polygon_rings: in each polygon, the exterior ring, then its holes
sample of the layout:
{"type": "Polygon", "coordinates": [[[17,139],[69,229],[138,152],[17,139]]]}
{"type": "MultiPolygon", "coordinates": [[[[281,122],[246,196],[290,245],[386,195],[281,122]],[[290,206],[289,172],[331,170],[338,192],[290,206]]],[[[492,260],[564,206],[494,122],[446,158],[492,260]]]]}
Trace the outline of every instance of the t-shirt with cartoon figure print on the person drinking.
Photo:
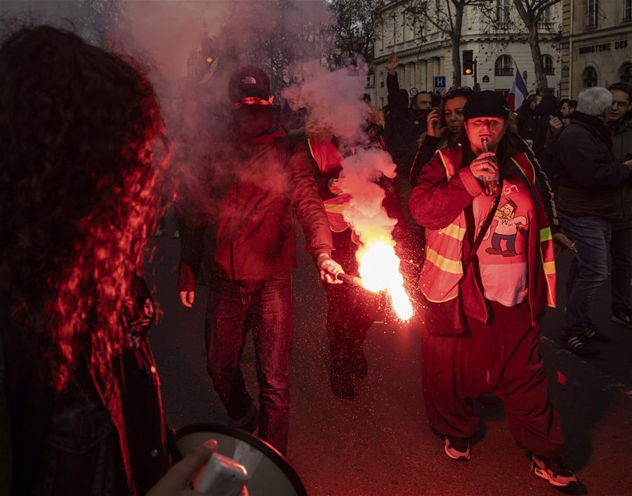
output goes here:
{"type": "MultiPolygon", "coordinates": [[[[479,228],[493,201],[485,195],[475,198],[474,218],[479,228]]],[[[496,214],[477,252],[485,298],[515,306],[527,296],[527,243],[533,214],[527,187],[504,181],[496,214]]]]}

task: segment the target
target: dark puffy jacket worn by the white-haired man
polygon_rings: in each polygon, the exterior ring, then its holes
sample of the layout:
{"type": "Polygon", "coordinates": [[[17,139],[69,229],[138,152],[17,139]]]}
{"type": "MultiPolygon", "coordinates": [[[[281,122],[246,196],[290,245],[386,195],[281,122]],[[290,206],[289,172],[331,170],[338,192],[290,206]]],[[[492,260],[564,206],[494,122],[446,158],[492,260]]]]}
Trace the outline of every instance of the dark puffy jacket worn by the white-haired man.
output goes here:
{"type": "Polygon", "coordinates": [[[552,167],[560,211],[574,216],[623,216],[621,189],[630,169],[610,151],[610,133],[600,119],[577,110],[570,118],[558,138],[552,167]]]}

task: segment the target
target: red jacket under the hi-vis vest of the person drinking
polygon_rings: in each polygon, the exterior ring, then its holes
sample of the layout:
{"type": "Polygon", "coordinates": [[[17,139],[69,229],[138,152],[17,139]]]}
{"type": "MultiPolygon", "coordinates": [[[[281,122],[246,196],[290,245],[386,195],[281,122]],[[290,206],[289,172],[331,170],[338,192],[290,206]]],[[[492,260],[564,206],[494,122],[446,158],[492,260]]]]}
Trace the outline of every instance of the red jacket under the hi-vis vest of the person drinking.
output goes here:
{"type": "MultiPolygon", "coordinates": [[[[446,171],[439,155],[435,154],[433,159],[426,164],[419,174],[416,187],[412,190],[409,209],[415,221],[421,226],[430,229],[441,229],[447,227],[454,219],[461,214],[461,211],[468,207],[474,197],[482,194],[482,189],[468,169],[468,160],[461,161],[463,148],[445,148],[441,150],[446,160],[456,165],[458,173],[450,181],[446,180],[446,171]]],[[[558,226],[553,209],[551,190],[544,172],[541,171],[537,162],[532,158],[531,162],[536,169],[536,185],[538,191],[534,191],[532,196],[534,203],[544,207],[549,219],[549,224],[553,231],[558,226]]],[[[503,168],[503,174],[506,173],[503,168]]],[[[512,174],[512,180],[525,183],[527,181],[522,174],[512,174]]],[[[534,324],[544,313],[546,306],[546,282],[544,280],[544,270],[539,257],[539,230],[544,226],[533,226],[529,230],[528,244],[528,266],[529,266],[529,306],[532,311],[532,323],[534,324]]],[[[466,259],[473,244],[473,226],[468,226],[468,234],[463,239],[462,259],[466,259]]],[[[463,311],[470,317],[486,322],[488,318],[485,296],[482,290],[478,259],[474,258],[470,263],[459,283],[459,294],[463,311]]]]}

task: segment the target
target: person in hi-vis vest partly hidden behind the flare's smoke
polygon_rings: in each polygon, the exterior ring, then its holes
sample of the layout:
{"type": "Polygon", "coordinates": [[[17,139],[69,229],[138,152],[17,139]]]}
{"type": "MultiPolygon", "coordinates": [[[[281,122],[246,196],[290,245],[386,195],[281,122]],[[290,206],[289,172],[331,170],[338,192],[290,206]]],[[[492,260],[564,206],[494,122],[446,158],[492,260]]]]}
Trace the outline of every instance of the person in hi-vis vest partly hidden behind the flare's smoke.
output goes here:
{"type": "MultiPolygon", "coordinates": [[[[371,122],[367,128],[367,146],[384,150],[385,145],[380,132],[381,118],[381,112],[372,110],[371,122]]],[[[305,132],[308,136],[308,148],[314,159],[318,191],[331,228],[336,261],[341,264],[345,273],[357,275],[355,253],[360,244],[360,238],[343,217],[343,209],[350,200],[350,195],[343,193],[338,185],[343,156],[338,150],[336,138],[331,136],[327,129],[308,122],[305,132]]],[[[404,214],[395,183],[386,176],[381,176],[378,182],[386,192],[383,200],[384,208],[391,218],[397,218],[393,237],[397,241],[395,249],[404,262],[411,259],[411,256],[402,256],[402,250],[407,254],[412,254],[410,252],[411,247],[414,246],[411,243],[412,233],[405,227],[404,214]]],[[[420,250],[417,251],[418,254],[419,252],[420,250]]],[[[367,358],[364,355],[362,343],[367,337],[367,330],[378,315],[379,299],[378,296],[353,285],[323,286],[328,305],[327,339],[331,352],[331,389],[339,398],[353,398],[355,396],[353,378],[362,379],[367,375],[367,358]]]]}

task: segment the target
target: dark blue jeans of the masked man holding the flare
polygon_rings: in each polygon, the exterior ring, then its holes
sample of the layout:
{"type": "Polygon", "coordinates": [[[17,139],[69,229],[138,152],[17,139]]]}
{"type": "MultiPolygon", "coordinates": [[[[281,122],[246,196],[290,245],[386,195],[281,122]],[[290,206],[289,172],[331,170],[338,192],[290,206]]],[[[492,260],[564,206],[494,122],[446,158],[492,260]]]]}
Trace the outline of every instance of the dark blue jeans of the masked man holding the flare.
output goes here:
{"type": "Polygon", "coordinates": [[[260,282],[212,278],[206,306],[207,369],[228,416],[242,419],[253,400],[239,359],[251,331],[259,385],[258,436],[285,453],[289,431],[289,358],[294,335],[291,274],[260,282]]]}

